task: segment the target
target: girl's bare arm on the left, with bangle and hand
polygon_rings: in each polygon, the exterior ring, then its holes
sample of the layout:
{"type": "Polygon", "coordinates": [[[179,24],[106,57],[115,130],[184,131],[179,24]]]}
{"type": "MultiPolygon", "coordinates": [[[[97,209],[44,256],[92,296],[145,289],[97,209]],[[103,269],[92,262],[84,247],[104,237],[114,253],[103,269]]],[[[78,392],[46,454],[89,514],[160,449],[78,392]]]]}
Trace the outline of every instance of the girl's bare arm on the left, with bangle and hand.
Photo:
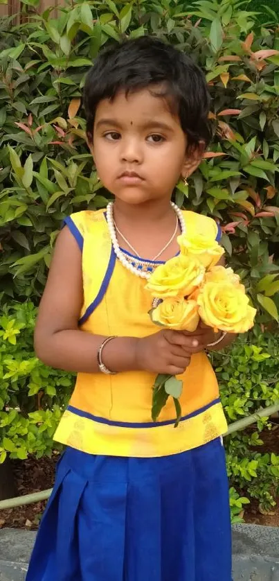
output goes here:
{"type": "MultiPolygon", "coordinates": [[[[65,226],[57,238],[35,329],[35,351],[46,365],[73,372],[99,371],[97,354],[105,336],[78,328],[82,301],[82,256],[65,226]]],[[[102,361],[115,372],[179,374],[190,363],[187,343],[183,333],[170,330],[142,339],[118,337],[107,343],[102,361]]]]}

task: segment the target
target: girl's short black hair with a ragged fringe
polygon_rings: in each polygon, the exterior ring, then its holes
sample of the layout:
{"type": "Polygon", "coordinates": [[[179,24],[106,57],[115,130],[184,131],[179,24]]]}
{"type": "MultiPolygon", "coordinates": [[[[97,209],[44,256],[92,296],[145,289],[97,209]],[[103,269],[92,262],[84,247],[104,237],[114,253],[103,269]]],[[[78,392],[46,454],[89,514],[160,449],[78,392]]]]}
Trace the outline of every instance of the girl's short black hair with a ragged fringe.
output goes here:
{"type": "Polygon", "coordinates": [[[152,85],[152,94],[168,101],[178,114],[188,147],[208,144],[210,96],[204,73],[191,58],[161,40],[143,36],[102,51],[87,74],[84,110],[87,136],[93,139],[96,107],[102,99],[114,99],[120,90],[130,92],[152,85]],[[159,85],[156,92],[155,85],[159,85]]]}

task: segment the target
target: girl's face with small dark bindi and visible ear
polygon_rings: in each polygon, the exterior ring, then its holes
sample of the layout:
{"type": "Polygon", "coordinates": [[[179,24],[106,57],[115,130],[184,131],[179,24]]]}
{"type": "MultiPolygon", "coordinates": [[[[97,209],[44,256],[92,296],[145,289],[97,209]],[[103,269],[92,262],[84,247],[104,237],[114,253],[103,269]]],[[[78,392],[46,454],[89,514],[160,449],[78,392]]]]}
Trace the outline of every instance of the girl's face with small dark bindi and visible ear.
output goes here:
{"type": "Polygon", "coordinates": [[[170,199],[179,177],[200,162],[201,153],[189,157],[186,147],[179,118],[148,89],[98,104],[91,151],[100,180],[123,202],[170,199]]]}

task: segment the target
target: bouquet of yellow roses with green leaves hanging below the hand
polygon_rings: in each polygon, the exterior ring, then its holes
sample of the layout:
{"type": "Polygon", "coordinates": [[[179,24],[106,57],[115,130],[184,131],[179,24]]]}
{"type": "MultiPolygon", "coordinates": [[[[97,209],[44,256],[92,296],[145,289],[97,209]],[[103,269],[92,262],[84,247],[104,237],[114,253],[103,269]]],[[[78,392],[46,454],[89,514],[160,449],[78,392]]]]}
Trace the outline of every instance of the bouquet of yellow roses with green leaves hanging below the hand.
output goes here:
{"type": "MultiPolygon", "coordinates": [[[[218,266],[224,249],[205,234],[182,234],[180,254],[154,270],[146,288],[154,297],[150,317],[165,329],[196,331],[199,322],[226,333],[245,333],[256,310],[249,304],[240,277],[231,268],[218,266]]],[[[159,374],[153,386],[152,419],[156,421],[169,396],[174,399],[177,423],[183,382],[159,374]]]]}

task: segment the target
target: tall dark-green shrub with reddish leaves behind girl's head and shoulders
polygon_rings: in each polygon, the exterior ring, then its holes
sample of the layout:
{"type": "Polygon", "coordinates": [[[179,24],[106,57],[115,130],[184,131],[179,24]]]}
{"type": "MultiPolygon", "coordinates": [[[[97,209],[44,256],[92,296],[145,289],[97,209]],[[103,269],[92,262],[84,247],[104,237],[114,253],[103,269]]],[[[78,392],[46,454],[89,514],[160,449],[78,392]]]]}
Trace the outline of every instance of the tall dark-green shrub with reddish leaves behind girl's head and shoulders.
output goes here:
{"type": "Polygon", "coordinates": [[[260,28],[236,0],[195,6],[81,2],[58,19],[30,11],[29,21],[2,31],[3,298],[36,302],[62,217],[105,205],[84,142],[84,74],[103,45],[151,33],[191,53],[213,97],[212,153],[189,187],[178,185],[176,201],[221,221],[229,261],[262,309],[260,320],[278,319],[279,269],[270,258],[279,232],[278,28],[260,28]]]}

